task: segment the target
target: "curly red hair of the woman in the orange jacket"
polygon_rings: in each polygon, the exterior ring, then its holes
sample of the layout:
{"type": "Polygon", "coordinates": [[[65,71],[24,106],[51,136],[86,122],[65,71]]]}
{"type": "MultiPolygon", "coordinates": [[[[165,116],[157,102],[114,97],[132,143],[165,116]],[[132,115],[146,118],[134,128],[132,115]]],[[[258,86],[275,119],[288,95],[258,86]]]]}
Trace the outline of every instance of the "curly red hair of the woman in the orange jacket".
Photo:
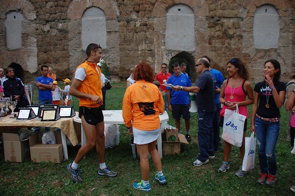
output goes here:
{"type": "Polygon", "coordinates": [[[145,80],[152,83],[154,80],[154,71],[148,63],[140,63],[135,67],[134,80],[145,80]]]}

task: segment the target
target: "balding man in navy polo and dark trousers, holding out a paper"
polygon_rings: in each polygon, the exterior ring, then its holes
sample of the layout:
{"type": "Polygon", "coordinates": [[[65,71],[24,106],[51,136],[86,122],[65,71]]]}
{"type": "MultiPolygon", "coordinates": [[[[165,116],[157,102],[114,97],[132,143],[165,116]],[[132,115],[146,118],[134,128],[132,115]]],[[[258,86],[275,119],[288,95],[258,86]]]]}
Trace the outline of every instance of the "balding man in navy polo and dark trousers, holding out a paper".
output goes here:
{"type": "MultiPolygon", "coordinates": [[[[175,86],[172,89],[196,93],[198,107],[198,140],[200,153],[194,166],[208,163],[209,158],[214,158],[213,148],[213,119],[216,111],[214,76],[209,71],[209,62],[206,58],[198,59],[196,64],[197,73],[200,73],[199,80],[194,87],[175,86]]],[[[182,74],[183,75],[183,74],[182,74]]]]}

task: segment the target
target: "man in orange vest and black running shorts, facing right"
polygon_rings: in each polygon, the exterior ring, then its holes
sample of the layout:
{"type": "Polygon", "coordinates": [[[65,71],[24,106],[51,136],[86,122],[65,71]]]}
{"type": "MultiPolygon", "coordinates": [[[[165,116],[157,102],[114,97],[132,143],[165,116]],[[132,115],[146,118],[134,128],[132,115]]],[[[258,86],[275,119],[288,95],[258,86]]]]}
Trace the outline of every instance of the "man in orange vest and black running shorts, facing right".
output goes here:
{"type": "Polygon", "coordinates": [[[99,160],[100,176],[116,177],[117,172],[112,171],[105,163],[104,118],[102,113],[101,69],[97,66],[102,58],[99,44],[90,43],[86,48],[88,59],[79,65],[75,72],[70,94],[79,98],[79,117],[86,135],[86,144],[81,146],[73,163],[67,164],[67,170],[74,182],[82,182],[80,161],[96,146],[99,160]]]}

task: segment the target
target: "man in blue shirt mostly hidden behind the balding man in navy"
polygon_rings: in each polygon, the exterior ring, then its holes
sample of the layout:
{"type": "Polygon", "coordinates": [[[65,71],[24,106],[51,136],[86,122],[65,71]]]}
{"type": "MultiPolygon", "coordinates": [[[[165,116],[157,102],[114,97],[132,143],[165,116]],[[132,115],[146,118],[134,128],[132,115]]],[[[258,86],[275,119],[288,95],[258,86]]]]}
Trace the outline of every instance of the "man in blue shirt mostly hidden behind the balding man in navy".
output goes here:
{"type": "MultiPolygon", "coordinates": [[[[209,64],[211,66],[211,60],[207,56],[203,56],[201,58],[206,58],[209,61],[209,64]]],[[[223,81],[225,80],[222,73],[216,69],[212,69],[209,67],[209,71],[213,74],[215,81],[216,81],[216,88],[215,88],[215,104],[216,104],[216,111],[215,116],[213,120],[213,146],[214,151],[217,151],[219,148],[219,141],[221,141],[220,138],[220,128],[219,128],[219,115],[220,115],[220,108],[221,103],[219,101],[220,91],[221,91],[221,85],[223,84],[223,81]]]]}

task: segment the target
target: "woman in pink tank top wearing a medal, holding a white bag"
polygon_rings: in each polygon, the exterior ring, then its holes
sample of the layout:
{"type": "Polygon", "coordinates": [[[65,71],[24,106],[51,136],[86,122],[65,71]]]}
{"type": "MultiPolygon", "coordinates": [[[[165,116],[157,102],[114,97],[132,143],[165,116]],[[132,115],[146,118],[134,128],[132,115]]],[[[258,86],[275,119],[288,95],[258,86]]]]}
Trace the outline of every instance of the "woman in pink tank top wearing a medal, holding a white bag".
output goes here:
{"type": "MultiPolygon", "coordinates": [[[[237,105],[239,113],[246,116],[242,146],[239,148],[242,164],[245,154],[245,134],[247,130],[247,118],[249,117],[247,105],[253,103],[253,88],[248,81],[248,71],[244,63],[240,59],[231,59],[227,63],[227,71],[229,73],[229,79],[223,82],[219,97],[219,101],[224,105],[220,111],[221,117],[219,126],[223,127],[225,109],[235,110],[237,105]],[[248,96],[247,100],[246,96],[248,96]]],[[[232,144],[224,141],[224,161],[218,169],[220,172],[226,172],[226,170],[230,168],[229,158],[231,150],[232,144]]],[[[240,166],[235,175],[237,177],[243,177],[245,173],[246,172],[242,170],[242,166],[240,166]]]]}

